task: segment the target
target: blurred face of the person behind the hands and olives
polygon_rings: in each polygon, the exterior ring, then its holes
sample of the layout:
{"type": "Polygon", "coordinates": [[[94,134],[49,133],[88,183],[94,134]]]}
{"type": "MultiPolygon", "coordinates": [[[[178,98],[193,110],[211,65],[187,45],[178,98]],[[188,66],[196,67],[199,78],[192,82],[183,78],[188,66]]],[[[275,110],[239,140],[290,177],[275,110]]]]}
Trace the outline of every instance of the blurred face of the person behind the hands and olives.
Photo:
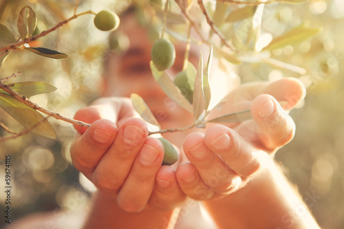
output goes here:
{"type": "MultiPolygon", "coordinates": [[[[125,53],[113,54],[109,59],[103,95],[130,97],[131,93],[137,93],[147,103],[162,128],[191,125],[192,115],[169,99],[151,74],[149,62],[153,42],[149,40],[147,29],[138,24],[135,16],[128,15],[121,21],[118,30],[128,36],[130,47],[125,53]]],[[[172,78],[182,70],[185,44],[177,43],[175,49],[175,64],[167,71],[172,78]]],[[[197,67],[199,50],[192,49],[189,60],[197,67]]]]}

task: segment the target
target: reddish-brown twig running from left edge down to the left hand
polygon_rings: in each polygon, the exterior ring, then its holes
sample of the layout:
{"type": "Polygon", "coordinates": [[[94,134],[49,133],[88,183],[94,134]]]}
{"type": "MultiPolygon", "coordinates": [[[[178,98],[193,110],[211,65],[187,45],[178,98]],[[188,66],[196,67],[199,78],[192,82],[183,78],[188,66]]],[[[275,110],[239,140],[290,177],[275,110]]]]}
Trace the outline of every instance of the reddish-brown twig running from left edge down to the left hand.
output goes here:
{"type": "MultiPolygon", "coordinates": [[[[20,75],[20,73],[17,73],[17,75],[20,75]]],[[[6,79],[6,78],[5,78],[6,79]]],[[[17,93],[17,91],[12,90],[12,88],[10,88],[10,86],[6,85],[3,83],[3,80],[0,80],[0,88],[3,91],[6,91],[6,93],[8,93],[9,95],[11,95],[12,97],[16,98],[17,100],[21,101],[21,103],[30,106],[30,108],[33,108],[34,110],[39,110],[41,112],[43,112],[46,115],[49,115],[51,117],[54,117],[54,119],[61,119],[62,121],[65,121],[67,123],[72,123],[73,125],[78,125],[80,127],[89,127],[89,123],[84,123],[82,121],[78,121],[75,119],[70,119],[68,117],[64,117],[63,115],[60,115],[52,110],[47,110],[46,108],[43,108],[41,106],[39,106],[39,104],[34,103],[33,101],[30,101],[30,99],[28,99],[27,97],[17,93]]]]}

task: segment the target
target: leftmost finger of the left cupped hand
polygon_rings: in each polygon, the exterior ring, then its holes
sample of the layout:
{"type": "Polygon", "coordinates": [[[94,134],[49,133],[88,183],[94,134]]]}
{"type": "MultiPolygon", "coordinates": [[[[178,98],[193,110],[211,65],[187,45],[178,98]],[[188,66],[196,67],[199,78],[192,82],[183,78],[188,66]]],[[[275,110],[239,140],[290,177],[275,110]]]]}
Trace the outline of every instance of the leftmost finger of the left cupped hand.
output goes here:
{"type": "Polygon", "coordinates": [[[96,165],[116,138],[117,132],[112,121],[100,119],[92,123],[83,135],[76,136],[70,150],[76,169],[90,178],[96,165]]]}

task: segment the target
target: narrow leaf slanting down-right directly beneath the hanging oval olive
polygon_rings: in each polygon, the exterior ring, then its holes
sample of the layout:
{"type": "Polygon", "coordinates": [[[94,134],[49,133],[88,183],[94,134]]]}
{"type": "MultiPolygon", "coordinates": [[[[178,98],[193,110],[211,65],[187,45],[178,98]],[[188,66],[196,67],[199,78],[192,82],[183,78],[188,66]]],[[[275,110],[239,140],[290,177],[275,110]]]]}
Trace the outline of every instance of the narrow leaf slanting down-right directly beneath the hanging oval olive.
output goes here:
{"type": "Polygon", "coordinates": [[[175,101],[179,106],[192,113],[193,108],[190,102],[184,97],[178,86],[175,86],[169,75],[167,75],[164,71],[158,71],[153,64],[153,61],[151,61],[150,64],[151,72],[164,93],[166,93],[166,95],[175,101]]]}

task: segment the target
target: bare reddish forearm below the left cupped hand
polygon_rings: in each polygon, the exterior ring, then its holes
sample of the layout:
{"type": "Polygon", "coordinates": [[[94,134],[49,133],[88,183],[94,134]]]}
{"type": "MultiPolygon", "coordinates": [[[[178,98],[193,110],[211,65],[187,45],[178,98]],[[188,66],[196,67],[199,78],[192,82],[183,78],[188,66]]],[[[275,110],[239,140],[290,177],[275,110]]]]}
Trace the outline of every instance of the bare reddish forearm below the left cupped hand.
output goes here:
{"type": "Polygon", "coordinates": [[[89,215],[83,229],[94,228],[167,228],[173,210],[144,209],[140,213],[126,213],[118,207],[116,199],[94,194],[89,215]]]}

